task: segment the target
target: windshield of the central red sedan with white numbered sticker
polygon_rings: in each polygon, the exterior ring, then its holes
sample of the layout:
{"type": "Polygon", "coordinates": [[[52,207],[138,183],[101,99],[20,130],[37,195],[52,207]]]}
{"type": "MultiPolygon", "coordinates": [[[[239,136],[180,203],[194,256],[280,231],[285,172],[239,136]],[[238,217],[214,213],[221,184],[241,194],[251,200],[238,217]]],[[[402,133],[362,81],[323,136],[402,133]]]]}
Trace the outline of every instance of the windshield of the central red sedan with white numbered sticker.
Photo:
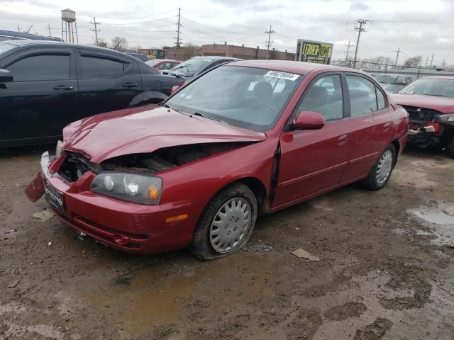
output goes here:
{"type": "Polygon", "coordinates": [[[303,76],[223,66],[184,86],[165,104],[190,114],[265,132],[273,128],[303,76]]]}

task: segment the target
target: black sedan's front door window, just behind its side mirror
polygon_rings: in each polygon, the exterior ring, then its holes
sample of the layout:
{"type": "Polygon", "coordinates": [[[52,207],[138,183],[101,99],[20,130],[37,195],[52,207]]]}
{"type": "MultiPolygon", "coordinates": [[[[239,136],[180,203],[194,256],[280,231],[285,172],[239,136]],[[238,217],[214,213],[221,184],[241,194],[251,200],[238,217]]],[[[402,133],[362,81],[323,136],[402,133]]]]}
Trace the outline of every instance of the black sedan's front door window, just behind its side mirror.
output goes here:
{"type": "Polygon", "coordinates": [[[70,79],[70,55],[32,55],[6,67],[14,81],[70,79]]]}

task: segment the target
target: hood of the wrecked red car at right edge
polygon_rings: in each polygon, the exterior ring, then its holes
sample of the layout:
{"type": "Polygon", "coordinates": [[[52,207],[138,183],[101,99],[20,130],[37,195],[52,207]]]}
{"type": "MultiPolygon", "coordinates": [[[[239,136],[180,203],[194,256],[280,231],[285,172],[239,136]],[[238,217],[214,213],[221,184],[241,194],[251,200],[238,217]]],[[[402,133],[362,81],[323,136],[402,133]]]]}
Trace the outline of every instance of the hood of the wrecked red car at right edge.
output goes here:
{"type": "Polygon", "coordinates": [[[394,103],[416,108],[429,108],[441,113],[454,113],[454,98],[421,94],[391,94],[394,103]]]}

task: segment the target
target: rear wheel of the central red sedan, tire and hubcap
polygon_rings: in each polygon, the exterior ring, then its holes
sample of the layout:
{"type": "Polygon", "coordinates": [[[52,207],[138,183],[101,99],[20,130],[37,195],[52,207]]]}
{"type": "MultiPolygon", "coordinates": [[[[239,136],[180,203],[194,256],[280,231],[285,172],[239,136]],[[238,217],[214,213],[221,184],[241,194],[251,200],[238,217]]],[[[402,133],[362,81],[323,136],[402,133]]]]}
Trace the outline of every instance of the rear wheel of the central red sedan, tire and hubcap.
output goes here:
{"type": "Polygon", "coordinates": [[[380,154],[377,162],[372,166],[372,169],[369,171],[369,176],[362,182],[362,186],[367,190],[377,191],[384,186],[389,181],[391,177],[392,169],[396,164],[396,148],[394,145],[388,145],[386,149],[380,154]],[[384,168],[387,166],[388,169],[384,168]],[[383,169],[380,171],[380,169],[383,169]]]}

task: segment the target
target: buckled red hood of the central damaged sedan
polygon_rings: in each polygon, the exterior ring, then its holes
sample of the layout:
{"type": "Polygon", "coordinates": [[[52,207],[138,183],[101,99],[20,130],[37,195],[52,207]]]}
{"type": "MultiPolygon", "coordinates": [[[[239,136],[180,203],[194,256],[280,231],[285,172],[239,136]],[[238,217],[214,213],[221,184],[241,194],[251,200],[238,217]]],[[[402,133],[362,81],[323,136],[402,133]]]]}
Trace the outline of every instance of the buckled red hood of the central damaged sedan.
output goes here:
{"type": "Polygon", "coordinates": [[[94,115],[68,125],[62,149],[82,152],[94,163],[123,154],[210,142],[260,142],[265,133],[238,128],[162,106],[94,115]]]}

